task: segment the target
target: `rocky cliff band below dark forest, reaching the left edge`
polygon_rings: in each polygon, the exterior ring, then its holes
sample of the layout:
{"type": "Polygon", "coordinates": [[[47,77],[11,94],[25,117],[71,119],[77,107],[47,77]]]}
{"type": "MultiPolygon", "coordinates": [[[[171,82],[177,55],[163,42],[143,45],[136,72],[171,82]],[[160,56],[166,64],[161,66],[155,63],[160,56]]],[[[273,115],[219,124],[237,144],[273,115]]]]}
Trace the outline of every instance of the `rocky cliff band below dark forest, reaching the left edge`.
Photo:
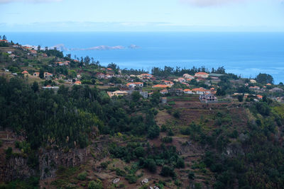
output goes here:
{"type": "MultiPolygon", "coordinates": [[[[14,181],[26,179],[31,176],[40,176],[40,179],[54,178],[59,166],[79,166],[86,163],[89,149],[46,150],[40,149],[38,154],[38,168],[28,166],[28,158],[23,156],[11,156],[4,160],[0,167],[0,181],[14,181]]],[[[4,154],[3,154],[4,155],[4,154]]]]}

